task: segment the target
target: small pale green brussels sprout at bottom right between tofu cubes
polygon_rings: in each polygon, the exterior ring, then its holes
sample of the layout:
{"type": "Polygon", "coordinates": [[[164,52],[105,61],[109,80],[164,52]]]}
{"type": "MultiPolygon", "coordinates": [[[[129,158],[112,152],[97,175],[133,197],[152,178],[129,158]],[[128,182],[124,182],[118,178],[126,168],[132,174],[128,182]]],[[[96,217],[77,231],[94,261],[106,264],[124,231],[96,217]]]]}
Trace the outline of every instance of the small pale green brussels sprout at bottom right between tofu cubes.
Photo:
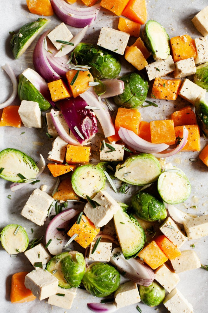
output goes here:
{"type": "Polygon", "coordinates": [[[154,280],[148,287],[140,285],[139,294],[144,304],[153,307],[163,301],[165,298],[165,289],[154,280]]]}

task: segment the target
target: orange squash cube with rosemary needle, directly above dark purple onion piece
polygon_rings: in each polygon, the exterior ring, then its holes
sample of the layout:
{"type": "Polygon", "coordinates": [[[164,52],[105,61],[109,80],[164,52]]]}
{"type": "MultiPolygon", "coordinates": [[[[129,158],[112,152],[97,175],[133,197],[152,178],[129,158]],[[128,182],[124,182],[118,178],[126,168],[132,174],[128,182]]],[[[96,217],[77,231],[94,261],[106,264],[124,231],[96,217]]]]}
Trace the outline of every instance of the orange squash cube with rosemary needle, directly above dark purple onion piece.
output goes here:
{"type": "Polygon", "coordinates": [[[87,71],[77,71],[76,69],[70,69],[66,73],[66,79],[68,81],[68,85],[72,92],[74,98],[76,98],[79,94],[82,94],[86,90],[89,89],[89,82],[94,81],[90,72],[87,71]],[[75,79],[75,75],[79,72],[77,78],[75,79]],[[72,80],[75,80],[74,82],[72,80]],[[71,85],[73,84],[73,85],[71,85]]]}

